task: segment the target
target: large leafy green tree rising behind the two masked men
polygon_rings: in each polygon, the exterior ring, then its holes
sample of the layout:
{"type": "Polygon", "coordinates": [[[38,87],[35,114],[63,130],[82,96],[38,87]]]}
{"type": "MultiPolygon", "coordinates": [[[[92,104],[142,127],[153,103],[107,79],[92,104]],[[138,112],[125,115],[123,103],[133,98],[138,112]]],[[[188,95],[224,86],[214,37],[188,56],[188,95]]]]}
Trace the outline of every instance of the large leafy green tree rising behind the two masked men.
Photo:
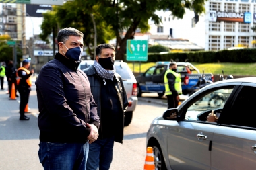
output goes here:
{"type": "MultiPolygon", "coordinates": [[[[155,24],[161,20],[156,10],[169,10],[173,17],[182,19],[185,9],[195,13],[205,11],[205,0],[94,0],[67,1],[63,6],[55,7],[55,18],[60,28],[73,26],[84,33],[84,43],[89,46],[94,40],[94,30],[90,15],[94,15],[97,26],[98,44],[108,42],[113,36],[117,38],[116,60],[123,60],[126,42],[133,39],[135,31],[150,29],[148,20],[155,24]]],[[[48,22],[44,18],[44,22],[48,22]]],[[[44,31],[44,30],[43,30],[44,31]]],[[[92,43],[93,44],[93,43],[92,43]]]]}

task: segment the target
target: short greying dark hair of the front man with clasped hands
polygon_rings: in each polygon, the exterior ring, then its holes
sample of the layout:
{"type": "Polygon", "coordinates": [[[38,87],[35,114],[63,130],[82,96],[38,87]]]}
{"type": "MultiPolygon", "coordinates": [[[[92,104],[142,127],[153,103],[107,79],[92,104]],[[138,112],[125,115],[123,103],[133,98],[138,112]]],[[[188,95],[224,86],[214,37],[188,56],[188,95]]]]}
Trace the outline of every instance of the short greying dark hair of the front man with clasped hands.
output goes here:
{"type": "Polygon", "coordinates": [[[65,44],[65,42],[69,39],[69,36],[79,36],[84,38],[84,34],[82,32],[75,28],[68,27],[59,30],[57,34],[57,42],[63,42],[65,44]]]}

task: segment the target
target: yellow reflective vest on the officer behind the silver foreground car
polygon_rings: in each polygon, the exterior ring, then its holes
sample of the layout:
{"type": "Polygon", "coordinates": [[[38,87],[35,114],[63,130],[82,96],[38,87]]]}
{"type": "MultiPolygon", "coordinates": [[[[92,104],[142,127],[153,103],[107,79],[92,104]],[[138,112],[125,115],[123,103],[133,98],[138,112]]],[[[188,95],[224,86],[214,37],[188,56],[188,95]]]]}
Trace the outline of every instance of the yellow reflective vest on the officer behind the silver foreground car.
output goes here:
{"type": "Polygon", "coordinates": [[[164,87],[165,87],[165,95],[172,95],[172,91],[170,91],[169,88],[169,83],[167,79],[167,74],[172,73],[176,77],[175,83],[174,83],[174,88],[178,92],[179,95],[182,93],[182,88],[181,88],[181,74],[176,73],[175,71],[172,71],[171,69],[168,69],[165,74],[164,74],[164,87]]]}

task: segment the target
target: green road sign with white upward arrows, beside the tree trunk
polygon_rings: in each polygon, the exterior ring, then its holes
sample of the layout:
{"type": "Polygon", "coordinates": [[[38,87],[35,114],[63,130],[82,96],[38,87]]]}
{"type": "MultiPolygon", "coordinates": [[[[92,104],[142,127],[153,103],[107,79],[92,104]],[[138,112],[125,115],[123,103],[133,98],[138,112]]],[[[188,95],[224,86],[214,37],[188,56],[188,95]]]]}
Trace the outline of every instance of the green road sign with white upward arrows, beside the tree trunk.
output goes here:
{"type": "Polygon", "coordinates": [[[147,40],[127,40],[126,60],[147,61],[148,41],[147,40]]]}

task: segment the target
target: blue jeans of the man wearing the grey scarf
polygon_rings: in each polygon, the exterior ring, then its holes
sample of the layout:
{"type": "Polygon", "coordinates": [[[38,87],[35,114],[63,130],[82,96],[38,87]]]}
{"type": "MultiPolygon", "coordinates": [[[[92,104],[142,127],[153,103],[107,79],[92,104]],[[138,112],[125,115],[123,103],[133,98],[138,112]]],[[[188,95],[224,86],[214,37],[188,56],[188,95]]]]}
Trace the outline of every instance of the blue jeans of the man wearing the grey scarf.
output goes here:
{"type": "Polygon", "coordinates": [[[113,158],[114,137],[98,139],[89,145],[86,170],[108,170],[113,158]]]}

